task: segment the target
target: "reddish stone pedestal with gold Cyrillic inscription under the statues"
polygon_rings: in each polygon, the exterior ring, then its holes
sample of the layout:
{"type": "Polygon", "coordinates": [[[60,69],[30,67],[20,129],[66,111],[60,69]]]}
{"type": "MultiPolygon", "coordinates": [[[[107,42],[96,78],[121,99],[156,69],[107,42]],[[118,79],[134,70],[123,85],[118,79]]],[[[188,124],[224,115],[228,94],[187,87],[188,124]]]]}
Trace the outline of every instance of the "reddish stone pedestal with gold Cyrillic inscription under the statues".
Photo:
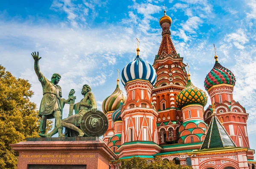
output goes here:
{"type": "Polygon", "coordinates": [[[11,144],[18,169],[109,169],[117,156],[97,137],[27,138],[11,144]]]}

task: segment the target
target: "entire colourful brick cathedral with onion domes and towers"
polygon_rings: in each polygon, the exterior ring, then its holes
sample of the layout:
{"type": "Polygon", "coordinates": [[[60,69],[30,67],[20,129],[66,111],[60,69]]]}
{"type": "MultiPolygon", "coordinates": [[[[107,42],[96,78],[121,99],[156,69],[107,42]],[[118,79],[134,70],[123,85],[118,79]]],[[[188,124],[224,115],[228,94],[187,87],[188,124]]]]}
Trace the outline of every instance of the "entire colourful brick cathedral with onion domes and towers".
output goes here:
{"type": "MultiPolygon", "coordinates": [[[[205,93],[193,85],[183,57],[172,43],[172,19],[160,19],[162,41],[154,64],[140,58],[121,73],[119,88],[102,103],[109,127],[103,141],[119,157],[155,157],[193,169],[255,169],[245,108],[233,100],[234,74],[218,62],[204,80],[205,93]],[[211,105],[204,109],[207,100],[211,105]]],[[[189,67],[188,67],[189,70],[189,67]]],[[[117,169],[114,162],[111,169],[117,169]]]]}

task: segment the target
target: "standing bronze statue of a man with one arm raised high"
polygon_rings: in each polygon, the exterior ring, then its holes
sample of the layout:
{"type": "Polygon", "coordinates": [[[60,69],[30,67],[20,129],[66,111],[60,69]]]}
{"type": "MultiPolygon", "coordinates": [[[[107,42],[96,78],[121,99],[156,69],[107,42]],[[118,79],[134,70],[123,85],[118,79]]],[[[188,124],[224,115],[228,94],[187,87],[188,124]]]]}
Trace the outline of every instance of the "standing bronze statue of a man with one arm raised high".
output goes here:
{"type": "MultiPolygon", "coordinates": [[[[69,103],[70,100],[73,98],[70,97],[69,99],[62,99],[61,95],[61,87],[58,84],[58,82],[61,79],[61,75],[58,73],[54,73],[52,75],[51,81],[49,81],[41,72],[39,68],[39,60],[41,57],[39,57],[39,54],[36,52],[31,54],[33,56],[34,62],[34,69],[35,73],[38,76],[39,82],[41,82],[41,85],[43,87],[43,98],[40,104],[39,109],[39,116],[41,117],[40,121],[40,136],[41,137],[51,137],[55,133],[58,132],[59,137],[64,137],[62,134],[63,127],[61,127],[61,119],[62,119],[62,110],[64,107],[64,104],[69,103]],[[52,130],[51,133],[45,134],[46,129],[46,121],[47,119],[55,118],[55,128],[52,130]]],[[[75,93],[74,90],[70,91],[70,94],[75,93]]]]}

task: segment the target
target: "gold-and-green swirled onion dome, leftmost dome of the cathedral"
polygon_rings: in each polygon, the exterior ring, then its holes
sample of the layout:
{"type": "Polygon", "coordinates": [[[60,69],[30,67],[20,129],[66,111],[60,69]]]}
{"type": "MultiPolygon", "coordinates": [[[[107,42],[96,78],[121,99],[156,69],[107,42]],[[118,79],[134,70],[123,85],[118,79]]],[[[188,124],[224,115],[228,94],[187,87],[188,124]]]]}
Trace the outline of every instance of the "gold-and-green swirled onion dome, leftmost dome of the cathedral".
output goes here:
{"type": "Polygon", "coordinates": [[[121,99],[125,103],[126,97],[123,95],[122,90],[119,88],[119,79],[116,80],[116,90],[108,96],[102,103],[102,111],[107,112],[115,111],[121,104],[121,99]]]}

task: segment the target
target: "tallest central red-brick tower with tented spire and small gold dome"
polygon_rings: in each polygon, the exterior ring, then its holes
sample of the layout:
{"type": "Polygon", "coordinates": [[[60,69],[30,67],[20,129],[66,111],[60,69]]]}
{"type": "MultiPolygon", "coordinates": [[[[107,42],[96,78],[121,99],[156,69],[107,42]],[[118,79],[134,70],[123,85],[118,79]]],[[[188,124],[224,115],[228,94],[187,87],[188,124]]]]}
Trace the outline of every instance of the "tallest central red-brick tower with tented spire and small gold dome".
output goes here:
{"type": "Polygon", "coordinates": [[[154,59],[153,67],[157,73],[157,81],[152,90],[152,97],[159,113],[157,117],[159,143],[173,144],[177,143],[178,128],[183,121],[175,99],[187,83],[186,65],[172,43],[170,36],[172,19],[166,15],[166,11],[159,23],[163,37],[154,59]]]}

